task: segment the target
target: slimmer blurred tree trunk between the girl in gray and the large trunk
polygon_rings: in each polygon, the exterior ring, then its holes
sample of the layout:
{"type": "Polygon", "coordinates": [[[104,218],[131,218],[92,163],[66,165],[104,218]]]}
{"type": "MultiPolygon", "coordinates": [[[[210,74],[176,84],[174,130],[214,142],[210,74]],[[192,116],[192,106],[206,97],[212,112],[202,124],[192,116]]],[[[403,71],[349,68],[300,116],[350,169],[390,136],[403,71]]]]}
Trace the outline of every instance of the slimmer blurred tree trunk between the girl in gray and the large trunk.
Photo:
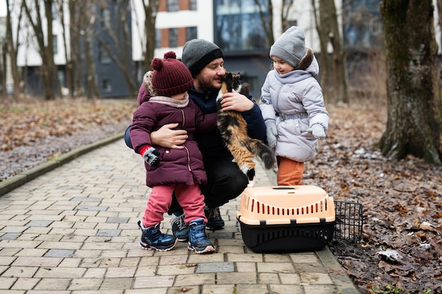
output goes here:
{"type": "Polygon", "coordinates": [[[324,97],[329,102],[349,102],[347,78],[345,71],[345,55],[338,25],[338,13],[334,0],[311,0],[313,16],[316,23],[321,46],[321,85],[324,97]],[[328,54],[328,44],[333,49],[328,54]]]}

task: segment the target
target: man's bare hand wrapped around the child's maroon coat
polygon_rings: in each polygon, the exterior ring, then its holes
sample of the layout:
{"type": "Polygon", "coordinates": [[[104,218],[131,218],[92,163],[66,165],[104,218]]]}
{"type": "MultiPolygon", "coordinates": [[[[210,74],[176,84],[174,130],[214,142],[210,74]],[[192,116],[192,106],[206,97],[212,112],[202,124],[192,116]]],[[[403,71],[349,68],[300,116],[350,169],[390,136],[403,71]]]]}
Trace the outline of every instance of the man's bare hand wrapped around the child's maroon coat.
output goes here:
{"type": "Polygon", "coordinates": [[[183,149],[183,144],[189,136],[186,130],[174,130],[177,126],[178,123],[168,123],[167,125],[163,125],[159,130],[150,133],[150,142],[152,145],[159,145],[170,149],[183,149]]]}

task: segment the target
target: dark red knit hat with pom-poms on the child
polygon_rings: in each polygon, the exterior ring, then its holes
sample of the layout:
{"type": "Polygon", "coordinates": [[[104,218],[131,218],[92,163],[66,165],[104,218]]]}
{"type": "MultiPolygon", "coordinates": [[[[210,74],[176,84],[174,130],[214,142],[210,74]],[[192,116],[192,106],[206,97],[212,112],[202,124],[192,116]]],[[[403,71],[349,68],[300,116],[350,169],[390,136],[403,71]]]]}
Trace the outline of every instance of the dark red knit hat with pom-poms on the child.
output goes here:
{"type": "Polygon", "coordinates": [[[163,96],[189,91],[193,86],[193,78],[189,69],[177,60],[174,51],[165,53],[165,59],[153,59],[152,85],[163,96]]]}

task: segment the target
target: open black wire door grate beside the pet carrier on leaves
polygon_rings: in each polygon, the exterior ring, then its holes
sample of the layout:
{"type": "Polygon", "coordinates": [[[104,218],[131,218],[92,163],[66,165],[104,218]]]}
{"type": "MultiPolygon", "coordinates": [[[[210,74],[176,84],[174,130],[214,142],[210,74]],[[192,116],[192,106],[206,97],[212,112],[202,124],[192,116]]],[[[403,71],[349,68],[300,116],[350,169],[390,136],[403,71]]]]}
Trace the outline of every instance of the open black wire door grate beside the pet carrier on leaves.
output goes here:
{"type": "Polygon", "coordinates": [[[362,204],[335,200],[335,232],[333,238],[360,241],[362,238],[362,204]]]}

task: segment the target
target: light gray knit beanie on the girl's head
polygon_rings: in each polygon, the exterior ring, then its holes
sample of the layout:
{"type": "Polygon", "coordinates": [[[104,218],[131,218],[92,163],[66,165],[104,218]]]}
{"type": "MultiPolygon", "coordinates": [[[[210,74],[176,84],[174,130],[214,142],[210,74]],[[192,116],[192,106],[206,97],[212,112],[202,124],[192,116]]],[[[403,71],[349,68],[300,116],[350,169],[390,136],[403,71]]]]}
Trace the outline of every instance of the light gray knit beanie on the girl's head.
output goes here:
{"type": "Polygon", "coordinates": [[[270,47],[270,57],[284,59],[295,68],[304,55],[306,55],[306,44],[304,30],[301,27],[289,27],[270,47]]]}

